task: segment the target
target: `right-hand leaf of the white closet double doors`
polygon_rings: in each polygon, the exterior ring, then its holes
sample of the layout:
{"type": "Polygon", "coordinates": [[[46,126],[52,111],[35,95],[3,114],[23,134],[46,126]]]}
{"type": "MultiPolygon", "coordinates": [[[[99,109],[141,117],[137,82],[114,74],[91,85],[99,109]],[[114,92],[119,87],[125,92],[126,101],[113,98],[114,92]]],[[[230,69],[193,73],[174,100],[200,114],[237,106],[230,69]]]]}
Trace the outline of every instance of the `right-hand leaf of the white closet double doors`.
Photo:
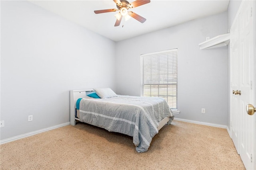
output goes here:
{"type": "Polygon", "coordinates": [[[254,29],[253,4],[251,0],[244,1],[239,15],[239,113],[240,144],[239,152],[246,169],[254,169],[253,154],[255,149],[255,115],[246,113],[246,105],[254,104],[254,29]]]}

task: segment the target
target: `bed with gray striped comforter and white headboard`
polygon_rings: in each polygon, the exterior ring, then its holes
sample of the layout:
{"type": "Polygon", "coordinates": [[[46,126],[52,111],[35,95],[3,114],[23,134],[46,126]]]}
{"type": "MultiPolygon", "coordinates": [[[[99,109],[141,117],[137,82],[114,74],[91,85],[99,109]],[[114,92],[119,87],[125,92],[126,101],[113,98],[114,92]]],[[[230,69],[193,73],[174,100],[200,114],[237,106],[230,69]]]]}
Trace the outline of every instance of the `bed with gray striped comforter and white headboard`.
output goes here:
{"type": "Polygon", "coordinates": [[[76,121],[80,121],[132,136],[137,152],[147,151],[152,138],[174,119],[163,98],[122,95],[89,97],[96,94],[95,90],[70,91],[70,124],[76,125],[76,121]]]}

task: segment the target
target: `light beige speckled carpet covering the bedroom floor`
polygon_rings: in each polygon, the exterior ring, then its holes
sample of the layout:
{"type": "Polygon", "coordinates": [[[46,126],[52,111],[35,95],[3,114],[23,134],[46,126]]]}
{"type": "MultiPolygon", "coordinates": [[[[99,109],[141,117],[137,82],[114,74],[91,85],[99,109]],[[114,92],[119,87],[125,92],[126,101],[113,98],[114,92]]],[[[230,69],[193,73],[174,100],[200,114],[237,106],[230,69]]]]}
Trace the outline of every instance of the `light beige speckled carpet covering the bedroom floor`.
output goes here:
{"type": "Polygon", "coordinates": [[[78,123],[0,145],[1,170],[243,170],[226,129],[173,121],[138,153],[132,137],[78,123]]]}

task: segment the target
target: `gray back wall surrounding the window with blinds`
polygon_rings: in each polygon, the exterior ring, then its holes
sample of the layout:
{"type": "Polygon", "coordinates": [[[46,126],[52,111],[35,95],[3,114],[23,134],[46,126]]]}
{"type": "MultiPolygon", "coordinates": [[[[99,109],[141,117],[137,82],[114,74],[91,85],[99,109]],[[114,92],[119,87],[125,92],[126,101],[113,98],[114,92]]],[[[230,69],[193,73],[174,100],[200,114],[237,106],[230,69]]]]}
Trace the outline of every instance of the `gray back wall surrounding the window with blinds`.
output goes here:
{"type": "Polygon", "coordinates": [[[177,118],[227,125],[227,47],[200,50],[227,33],[227,13],[116,43],[116,92],[140,96],[140,55],[178,48],[177,118]],[[124,48],[126,47],[126,48],[124,48]],[[206,113],[201,113],[201,108],[206,113]]]}

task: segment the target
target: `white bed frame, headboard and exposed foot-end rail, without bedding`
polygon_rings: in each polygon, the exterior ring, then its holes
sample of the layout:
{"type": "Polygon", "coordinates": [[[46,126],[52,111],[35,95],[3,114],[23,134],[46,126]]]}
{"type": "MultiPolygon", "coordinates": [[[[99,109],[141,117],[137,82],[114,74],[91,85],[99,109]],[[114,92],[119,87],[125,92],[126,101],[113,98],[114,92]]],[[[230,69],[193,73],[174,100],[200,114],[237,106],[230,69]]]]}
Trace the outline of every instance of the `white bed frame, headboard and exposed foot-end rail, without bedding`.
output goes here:
{"type": "MultiPolygon", "coordinates": [[[[93,89],[86,90],[71,90],[70,91],[70,125],[76,125],[76,101],[79,98],[85,98],[86,95],[94,93],[93,89]]],[[[169,124],[170,117],[165,117],[160,121],[157,130],[159,131],[166,123],[169,124]]]]}

